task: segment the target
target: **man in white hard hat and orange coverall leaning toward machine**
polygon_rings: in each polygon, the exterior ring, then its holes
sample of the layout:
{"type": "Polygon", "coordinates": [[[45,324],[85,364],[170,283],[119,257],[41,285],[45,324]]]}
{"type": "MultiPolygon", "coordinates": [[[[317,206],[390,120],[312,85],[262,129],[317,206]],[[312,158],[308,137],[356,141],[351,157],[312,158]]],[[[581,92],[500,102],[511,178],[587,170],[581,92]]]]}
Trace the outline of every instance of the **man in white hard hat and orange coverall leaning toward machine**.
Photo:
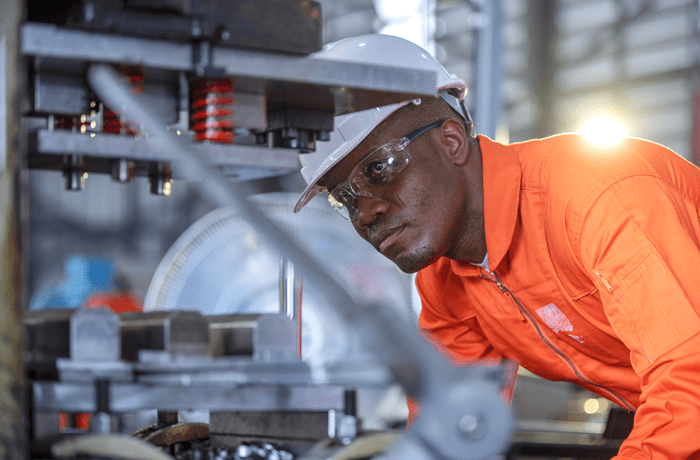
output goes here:
{"type": "Polygon", "coordinates": [[[700,458],[700,170],[639,139],[475,138],[464,83],[420,48],[366,36],[325,53],[435,68],[440,97],[337,117],[295,210],[328,190],[418,271],[420,327],[455,357],[513,359],[635,411],[616,459],[700,458]]]}

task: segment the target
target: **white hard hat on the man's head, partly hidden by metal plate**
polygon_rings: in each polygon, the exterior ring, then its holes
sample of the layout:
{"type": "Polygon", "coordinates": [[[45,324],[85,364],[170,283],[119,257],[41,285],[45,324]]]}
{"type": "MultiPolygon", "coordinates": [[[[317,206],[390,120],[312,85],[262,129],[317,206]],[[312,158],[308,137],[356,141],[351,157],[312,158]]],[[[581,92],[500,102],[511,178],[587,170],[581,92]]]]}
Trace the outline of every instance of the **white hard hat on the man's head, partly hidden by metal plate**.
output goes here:
{"type": "MultiPolygon", "coordinates": [[[[464,80],[450,74],[430,53],[408,40],[391,35],[361,35],[330,43],[312,57],[435,72],[435,93],[442,96],[467,123],[471,123],[463,102],[467,93],[464,80]]],[[[299,212],[309,200],[325,190],[324,187],[317,186],[317,182],[329,169],[345,158],[379,123],[410,103],[411,101],[405,101],[336,116],[330,141],[316,142],[315,152],[299,157],[301,175],[309,185],[299,197],[294,212],[299,212]]],[[[471,126],[468,129],[471,130],[471,126]]]]}

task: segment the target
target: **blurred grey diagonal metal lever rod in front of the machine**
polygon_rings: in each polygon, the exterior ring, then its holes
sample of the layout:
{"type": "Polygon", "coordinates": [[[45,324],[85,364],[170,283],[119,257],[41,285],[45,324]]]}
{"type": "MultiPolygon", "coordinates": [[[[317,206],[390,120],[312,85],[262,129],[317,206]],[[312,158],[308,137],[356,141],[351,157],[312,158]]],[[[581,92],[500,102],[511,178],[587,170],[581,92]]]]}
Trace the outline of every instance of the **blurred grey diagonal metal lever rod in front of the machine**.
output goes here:
{"type": "Polygon", "coordinates": [[[447,361],[407,324],[396,321],[396,314],[388,306],[357,303],[344,286],[245,198],[242,187],[227,181],[219,171],[184,148],[180,139],[166,130],[150,110],[137,100],[138,96],[122,85],[120,76],[110,66],[93,65],[88,72],[88,81],[112,110],[118,110],[125,118],[143,126],[149,142],[159,144],[161,151],[170,152],[170,157],[181,168],[198,179],[194,184],[203,197],[215,206],[238,208],[248,222],[277,246],[285,257],[294,260],[296,268],[314,285],[328,308],[335,310],[351,327],[362,331],[362,340],[375,350],[408,394],[419,397],[426,389],[427,379],[446,372],[449,368],[447,361]]]}

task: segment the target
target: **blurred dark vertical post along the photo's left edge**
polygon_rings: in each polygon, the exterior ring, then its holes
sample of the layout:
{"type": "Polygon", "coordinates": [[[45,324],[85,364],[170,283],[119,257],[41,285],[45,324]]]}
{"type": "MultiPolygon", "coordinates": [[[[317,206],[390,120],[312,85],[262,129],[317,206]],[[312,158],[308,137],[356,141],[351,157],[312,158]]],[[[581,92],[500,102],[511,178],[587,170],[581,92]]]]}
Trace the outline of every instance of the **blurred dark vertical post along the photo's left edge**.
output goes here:
{"type": "MultiPolygon", "coordinates": [[[[26,176],[21,108],[25,107],[27,80],[19,57],[18,27],[25,2],[3,0],[0,14],[0,451],[4,458],[26,458],[23,303],[27,281],[23,273],[29,240],[18,230],[24,227],[26,176]],[[19,196],[17,196],[19,193],[19,196]],[[26,246],[25,246],[26,248],[26,246]]],[[[22,228],[22,229],[26,229],[22,228]]]]}

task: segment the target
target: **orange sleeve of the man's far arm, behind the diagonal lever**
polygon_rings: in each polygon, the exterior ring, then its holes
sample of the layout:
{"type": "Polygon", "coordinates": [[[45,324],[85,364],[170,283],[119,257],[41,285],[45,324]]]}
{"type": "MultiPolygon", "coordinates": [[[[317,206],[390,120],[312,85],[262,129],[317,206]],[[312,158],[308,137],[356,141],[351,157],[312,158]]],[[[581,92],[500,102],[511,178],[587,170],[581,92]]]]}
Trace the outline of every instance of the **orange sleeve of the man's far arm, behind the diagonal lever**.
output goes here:
{"type": "MultiPolygon", "coordinates": [[[[444,280],[438,280],[430,272],[430,267],[419,272],[416,277],[416,286],[422,304],[418,319],[421,333],[455,365],[474,363],[477,360],[481,365],[499,364],[503,356],[494,350],[481,334],[476,319],[458,319],[449,311],[443,300],[441,282],[444,280]]],[[[464,308],[468,307],[464,306],[464,308]]],[[[502,391],[503,399],[508,405],[513,399],[517,367],[512,366],[509,369],[502,391]]],[[[408,398],[409,425],[418,416],[419,411],[418,402],[408,398]]]]}

